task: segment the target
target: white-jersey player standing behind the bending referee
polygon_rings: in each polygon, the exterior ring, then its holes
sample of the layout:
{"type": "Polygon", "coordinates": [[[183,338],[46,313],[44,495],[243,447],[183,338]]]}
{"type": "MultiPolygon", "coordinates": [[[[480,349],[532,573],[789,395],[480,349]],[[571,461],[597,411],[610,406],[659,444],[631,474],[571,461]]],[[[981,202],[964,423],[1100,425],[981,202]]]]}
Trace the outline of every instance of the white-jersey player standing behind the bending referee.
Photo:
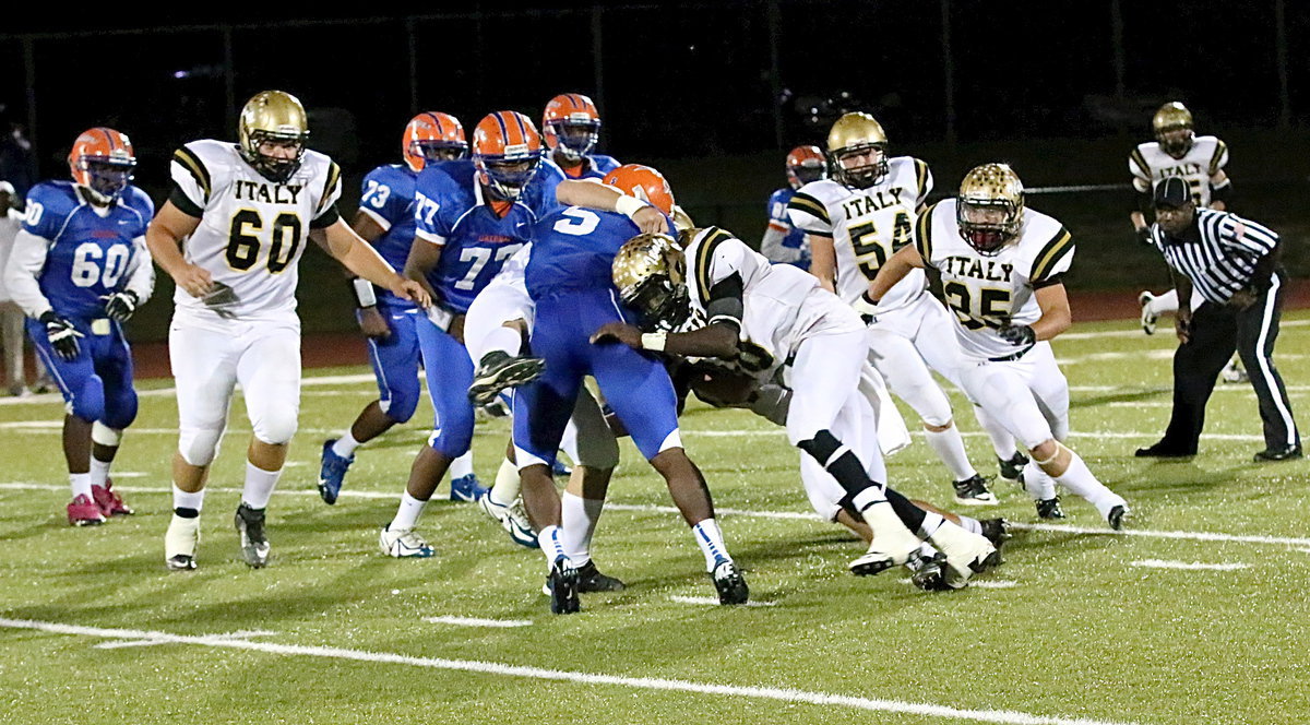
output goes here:
{"type": "MultiPolygon", "coordinates": [[[[1154,215],[1151,191],[1161,181],[1176,176],[1187,181],[1192,190],[1192,201],[1200,208],[1225,211],[1233,182],[1224,167],[1227,165],[1227,144],[1214,136],[1197,136],[1192,128],[1192,111],[1178,101],[1165,104],[1150,121],[1155,140],[1140,143],[1128,156],[1128,170],[1133,174],[1133,190],[1137,191],[1137,208],[1129,215],[1137,239],[1153,244],[1150,222],[1154,215]]],[[[1142,291],[1137,295],[1142,308],[1142,330],[1155,333],[1155,321],[1161,315],[1178,312],[1178,292],[1169,290],[1162,295],[1142,291]]],[[[1200,304],[1200,298],[1192,300],[1192,308],[1200,304]]],[[[1229,383],[1247,379],[1237,358],[1229,362],[1221,374],[1229,383]]]]}

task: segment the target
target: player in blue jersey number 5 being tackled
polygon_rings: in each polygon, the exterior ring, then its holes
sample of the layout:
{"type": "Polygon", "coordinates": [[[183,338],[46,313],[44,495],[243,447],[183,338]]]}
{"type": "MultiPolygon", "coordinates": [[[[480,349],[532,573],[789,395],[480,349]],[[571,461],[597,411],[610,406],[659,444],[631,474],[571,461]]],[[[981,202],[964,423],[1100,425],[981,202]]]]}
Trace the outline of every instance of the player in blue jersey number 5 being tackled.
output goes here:
{"type": "MultiPolygon", "coordinates": [[[[677,399],[668,372],[651,354],[595,338],[607,323],[627,319],[613,287],[610,265],[618,248],[642,231],[630,218],[648,206],[638,197],[663,212],[658,216],[665,232],[676,233],[664,216],[673,211],[673,195],[664,177],[648,167],[620,167],[605,181],[627,194],[614,206],[617,212],[569,207],[538,222],[525,274],[537,309],[529,345],[546,364],[540,378],[515,393],[514,444],[524,506],[550,572],[550,611],[579,610],[579,572],[565,545],[550,463],[586,375],[596,379],[638,450],[668,484],[705,555],[719,602],[740,604],[749,591],[723,543],[705,477],[683,450],[677,399]]],[[[576,186],[604,189],[595,184],[576,186]]],[[[565,202],[582,201],[563,197],[565,202]]],[[[654,337],[658,334],[652,336],[651,349],[658,349],[654,337]]]]}

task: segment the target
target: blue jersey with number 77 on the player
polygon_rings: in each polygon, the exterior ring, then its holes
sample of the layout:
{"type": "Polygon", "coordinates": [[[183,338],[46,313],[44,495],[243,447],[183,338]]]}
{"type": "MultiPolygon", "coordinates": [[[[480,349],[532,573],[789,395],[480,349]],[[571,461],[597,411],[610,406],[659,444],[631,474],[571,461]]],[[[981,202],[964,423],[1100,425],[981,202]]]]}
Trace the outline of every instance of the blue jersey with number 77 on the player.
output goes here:
{"type": "Polygon", "coordinates": [[[447,161],[418,174],[415,233],[421,243],[441,246],[427,281],[444,307],[466,312],[504,262],[532,241],[537,220],[559,206],[561,177],[558,167],[544,161],[519,201],[493,205],[482,197],[472,161],[447,161]]]}

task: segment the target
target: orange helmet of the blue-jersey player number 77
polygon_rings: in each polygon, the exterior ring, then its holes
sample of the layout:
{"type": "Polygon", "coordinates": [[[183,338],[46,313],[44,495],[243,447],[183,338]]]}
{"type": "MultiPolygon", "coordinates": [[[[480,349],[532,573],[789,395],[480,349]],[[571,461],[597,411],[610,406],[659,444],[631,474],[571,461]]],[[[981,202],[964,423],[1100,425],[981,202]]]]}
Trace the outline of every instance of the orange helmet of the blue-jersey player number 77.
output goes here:
{"type": "Polygon", "coordinates": [[[541,164],[541,134],[519,111],[487,114],[473,128],[478,181],[504,201],[517,199],[541,164]]]}

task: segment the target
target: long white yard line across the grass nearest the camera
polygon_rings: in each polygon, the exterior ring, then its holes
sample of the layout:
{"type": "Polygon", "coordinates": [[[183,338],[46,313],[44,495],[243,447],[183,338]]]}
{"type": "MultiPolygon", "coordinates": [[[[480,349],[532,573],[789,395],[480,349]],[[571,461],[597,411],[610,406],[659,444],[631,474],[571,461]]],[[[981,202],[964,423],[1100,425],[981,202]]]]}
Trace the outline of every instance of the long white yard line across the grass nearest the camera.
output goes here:
{"type": "MultiPolygon", "coordinates": [[[[782,703],[804,703],[823,707],[841,707],[871,712],[895,712],[904,715],[918,715],[926,717],[941,717],[950,720],[968,720],[973,722],[1000,722],[1007,725],[1120,725],[1123,721],[1091,720],[1086,717],[1049,717],[1030,715],[1017,711],[996,709],[962,709],[948,705],[933,705],[927,703],[907,703],[901,700],[884,700],[878,697],[855,697],[850,695],[832,695],[827,692],[811,692],[806,690],[790,690],[781,687],[744,687],[734,684],[714,684],[690,682],[683,679],[664,678],[635,678],[620,675],[604,675],[592,673],[575,673],[567,670],[548,670],[544,667],[523,667],[515,665],[502,665],[499,662],[482,662],[476,659],[443,659],[436,657],[410,657],[389,652],[368,652],[360,649],[345,649],[334,646],[308,646],[308,645],[278,645],[271,642],[249,642],[242,640],[224,638],[224,636],[186,636],[170,635],[168,632],[149,632],[141,629],[109,629],[101,627],[76,627],[71,624],[58,624],[54,621],[34,621],[24,619],[0,619],[0,627],[10,629],[35,629],[56,635],[75,635],[81,637],[107,637],[114,640],[161,640],[169,644],[199,645],[207,648],[244,649],[280,654],[288,657],[321,657],[331,659],[350,659],[355,662],[372,662],[380,665],[407,665],[411,667],[430,667],[435,670],[451,670],[458,673],[476,673],[486,675],[514,676],[525,679],[571,682],[587,686],[627,687],[634,690],[654,690],[664,692],[692,692],[697,695],[719,695],[727,697],[751,697],[756,700],[772,700],[782,703]]],[[[1123,724],[1128,725],[1128,724],[1123,724]]]]}

